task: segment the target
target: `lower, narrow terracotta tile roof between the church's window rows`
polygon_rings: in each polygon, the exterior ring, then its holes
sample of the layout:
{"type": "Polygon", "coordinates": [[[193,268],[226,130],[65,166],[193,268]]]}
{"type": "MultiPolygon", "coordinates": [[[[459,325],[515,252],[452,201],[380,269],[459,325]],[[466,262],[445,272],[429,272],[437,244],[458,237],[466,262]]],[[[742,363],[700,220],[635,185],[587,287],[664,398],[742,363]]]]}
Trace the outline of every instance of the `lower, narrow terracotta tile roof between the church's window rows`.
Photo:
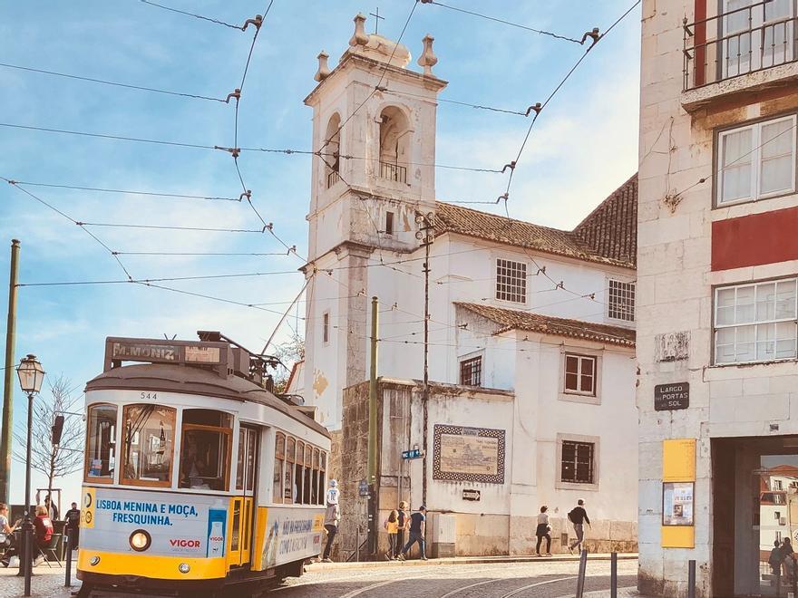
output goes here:
{"type": "Polygon", "coordinates": [[[500,327],[494,333],[503,333],[508,330],[524,330],[530,333],[553,334],[586,341],[607,342],[608,344],[618,344],[624,347],[635,346],[635,331],[622,326],[557,318],[552,315],[523,312],[517,309],[493,307],[484,304],[455,303],[455,305],[491,320],[491,322],[500,324],[500,327]]]}

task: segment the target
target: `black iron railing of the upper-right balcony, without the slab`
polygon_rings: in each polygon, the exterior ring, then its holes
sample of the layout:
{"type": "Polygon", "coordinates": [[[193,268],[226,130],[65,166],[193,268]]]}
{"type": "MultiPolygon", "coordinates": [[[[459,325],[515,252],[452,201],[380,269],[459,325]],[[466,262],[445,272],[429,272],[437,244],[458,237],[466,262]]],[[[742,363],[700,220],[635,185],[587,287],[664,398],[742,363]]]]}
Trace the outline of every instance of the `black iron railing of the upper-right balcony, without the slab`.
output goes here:
{"type": "Polygon", "coordinates": [[[685,90],[798,60],[796,1],[764,0],[685,19],[685,90]]]}

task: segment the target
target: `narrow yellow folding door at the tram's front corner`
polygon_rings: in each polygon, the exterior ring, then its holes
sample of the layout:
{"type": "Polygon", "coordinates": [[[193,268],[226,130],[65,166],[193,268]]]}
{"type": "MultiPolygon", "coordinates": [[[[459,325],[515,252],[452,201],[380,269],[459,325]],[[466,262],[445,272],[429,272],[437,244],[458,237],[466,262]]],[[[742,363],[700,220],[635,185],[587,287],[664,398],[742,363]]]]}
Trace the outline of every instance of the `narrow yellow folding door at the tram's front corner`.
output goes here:
{"type": "Polygon", "coordinates": [[[238,431],[236,497],[230,522],[229,566],[249,564],[253,523],[255,521],[255,487],[258,465],[258,429],[241,426],[238,431]]]}

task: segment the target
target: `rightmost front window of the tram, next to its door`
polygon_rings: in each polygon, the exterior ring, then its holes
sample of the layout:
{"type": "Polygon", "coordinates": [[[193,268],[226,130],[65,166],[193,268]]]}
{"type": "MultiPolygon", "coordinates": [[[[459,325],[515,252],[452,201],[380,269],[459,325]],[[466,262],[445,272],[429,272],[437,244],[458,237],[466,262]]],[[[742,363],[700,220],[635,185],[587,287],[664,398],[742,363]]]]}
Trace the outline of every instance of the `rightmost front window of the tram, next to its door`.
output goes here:
{"type": "Polygon", "coordinates": [[[199,490],[229,488],[233,418],[208,409],[183,410],[180,440],[180,487],[199,490]]]}

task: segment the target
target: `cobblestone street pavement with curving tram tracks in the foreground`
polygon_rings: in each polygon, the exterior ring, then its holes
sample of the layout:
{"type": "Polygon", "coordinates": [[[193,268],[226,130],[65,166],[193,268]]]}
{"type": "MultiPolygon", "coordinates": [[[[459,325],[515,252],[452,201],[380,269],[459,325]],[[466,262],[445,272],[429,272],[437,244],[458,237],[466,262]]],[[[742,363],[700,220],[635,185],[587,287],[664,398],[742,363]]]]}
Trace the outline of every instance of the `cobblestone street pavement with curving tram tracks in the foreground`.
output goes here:
{"type": "MultiPolygon", "coordinates": [[[[356,566],[309,565],[307,573],[291,578],[262,598],[564,598],[576,590],[576,561],[491,564],[384,563],[356,566]]],[[[63,570],[37,567],[34,596],[68,598],[63,570]]],[[[618,563],[619,596],[636,596],[637,561],[618,563]]],[[[0,598],[22,595],[22,579],[15,570],[0,570],[0,598]]],[[[585,586],[589,598],[608,596],[609,562],[589,561],[585,586]]],[[[105,595],[105,594],[103,594],[105,595]]],[[[232,595],[246,596],[238,592],[232,595]]],[[[196,597],[195,597],[196,598],[196,597]]],[[[587,595],[586,595],[587,598],[587,595]]]]}

